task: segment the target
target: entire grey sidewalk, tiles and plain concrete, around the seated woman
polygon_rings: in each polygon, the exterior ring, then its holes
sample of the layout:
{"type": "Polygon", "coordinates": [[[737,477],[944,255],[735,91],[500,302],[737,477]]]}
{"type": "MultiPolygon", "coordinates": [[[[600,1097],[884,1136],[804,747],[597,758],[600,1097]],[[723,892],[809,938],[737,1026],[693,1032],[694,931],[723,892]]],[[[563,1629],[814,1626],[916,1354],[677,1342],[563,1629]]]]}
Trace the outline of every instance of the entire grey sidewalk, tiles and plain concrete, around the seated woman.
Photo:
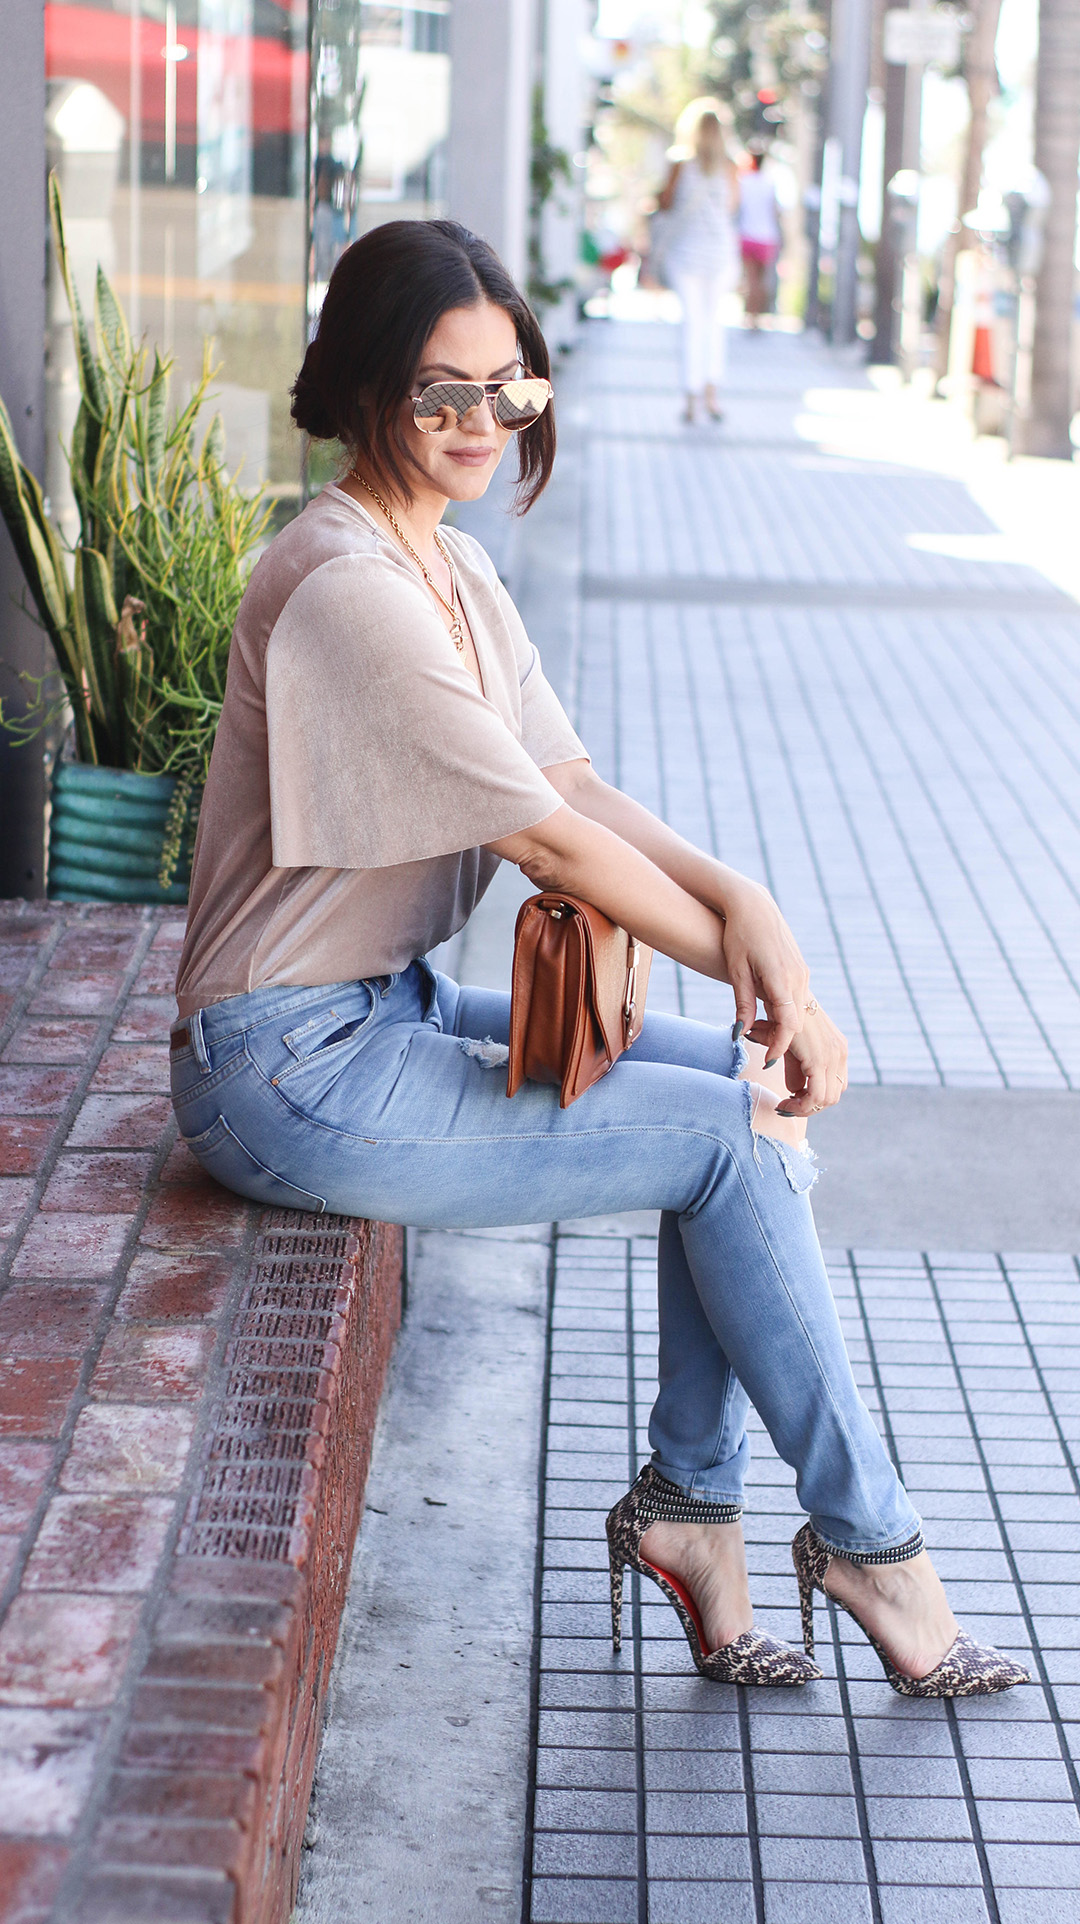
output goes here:
{"type": "MultiPolygon", "coordinates": [[[[372,1889],[389,1924],[1080,1907],[1080,610],[993,558],[963,479],[886,439],[828,444],[820,423],[872,400],[855,364],[782,335],[732,346],[724,427],[687,433],[674,329],[591,325],[566,483],[502,566],[601,772],[770,881],[849,1031],[814,1208],[857,1370],[959,1614],[1038,1682],[909,1703],[818,1612],[824,1684],[724,1691],[649,1585],[612,1658],[603,1514],[647,1453],[655,1224],[424,1237],[302,1924],[373,1914],[372,1889]],[[441,1462],[454,1537],[420,1508],[441,1462]]],[[[520,893],[502,875],[445,966],[504,985],[520,893]]],[[[728,991],[664,962],[651,1000],[732,1020],[728,991]]],[[[797,1522],[757,1428],[755,1605],[785,1635],[797,1522]]]]}

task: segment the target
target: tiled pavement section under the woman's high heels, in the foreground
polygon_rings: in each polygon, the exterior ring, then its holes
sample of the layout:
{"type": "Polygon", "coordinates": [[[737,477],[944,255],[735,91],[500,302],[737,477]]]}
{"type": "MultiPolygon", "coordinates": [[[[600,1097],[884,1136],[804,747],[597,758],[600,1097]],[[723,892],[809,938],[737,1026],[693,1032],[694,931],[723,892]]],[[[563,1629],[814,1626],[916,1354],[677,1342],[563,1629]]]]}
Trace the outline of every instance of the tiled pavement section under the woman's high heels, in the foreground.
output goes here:
{"type": "MultiPolygon", "coordinates": [[[[558,1237],[553,1285],[533,1924],[1074,1916],[1076,1264],[830,1260],[862,1393],[951,1601],[972,1633],[1032,1666],[1036,1687],[957,1705],[897,1697],[855,1624],[818,1603],[826,1682],[735,1691],[693,1674],[674,1612],[637,1578],[622,1657],[610,1651],[603,1516],[647,1455],[656,1245],[587,1228],[558,1237]]],[[[793,1474],[757,1422],[753,1447],[755,1608],[797,1641],[793,1474]]]]}

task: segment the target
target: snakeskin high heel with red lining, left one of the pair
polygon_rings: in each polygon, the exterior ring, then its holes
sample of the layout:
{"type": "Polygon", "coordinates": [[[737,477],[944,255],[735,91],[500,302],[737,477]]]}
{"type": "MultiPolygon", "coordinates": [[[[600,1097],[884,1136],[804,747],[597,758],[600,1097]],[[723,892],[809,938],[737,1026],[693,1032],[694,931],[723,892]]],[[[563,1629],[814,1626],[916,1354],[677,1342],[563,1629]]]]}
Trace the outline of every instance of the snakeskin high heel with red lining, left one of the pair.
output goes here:
{"type": "Polygon", "coordinates": [[[635,1483],[620,1497],[608,1514],[608,1560],[612,1580],[612,1645],[622,1649],[622,1572],[630,1564],[664,1591],[685,1630],[689,1653],[703,1678],[714,1684],[809,1684],[820,1678],[818,1666],[760,1630],[743,1630],[733,1643],[707,1651],[705,1626],[689,1591],[668,1570],[658,1570],[641,1557],[641,1537],[649,1524],[737,1524],[741,1508],[735,1503],[701,1503],[683,1495],[674,1483],[647,1464],[635,1483]]]}

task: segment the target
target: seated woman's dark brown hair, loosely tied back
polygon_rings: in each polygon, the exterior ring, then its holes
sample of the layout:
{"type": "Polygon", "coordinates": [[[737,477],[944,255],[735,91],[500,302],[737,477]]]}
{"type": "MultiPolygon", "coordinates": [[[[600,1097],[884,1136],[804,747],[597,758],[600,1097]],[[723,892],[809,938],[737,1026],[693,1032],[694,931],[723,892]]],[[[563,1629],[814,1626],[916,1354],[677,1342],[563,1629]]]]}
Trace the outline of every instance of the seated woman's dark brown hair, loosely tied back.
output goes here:
{"type": "MultiPolygon", "coordinates": [[[[489,300],[510,316],[529,373],[551,375],[541,325],[495,248],[460,221],[387,221],[337,262],[314,341],[293,389],[293,419],[314,441],[341,441],[412,500],[420,473],[400,427],[431,329],[450,308],[489,300]]],[[[554,462],[551,402],[518,435],[518,514],[527,514],[554,462]]]]}

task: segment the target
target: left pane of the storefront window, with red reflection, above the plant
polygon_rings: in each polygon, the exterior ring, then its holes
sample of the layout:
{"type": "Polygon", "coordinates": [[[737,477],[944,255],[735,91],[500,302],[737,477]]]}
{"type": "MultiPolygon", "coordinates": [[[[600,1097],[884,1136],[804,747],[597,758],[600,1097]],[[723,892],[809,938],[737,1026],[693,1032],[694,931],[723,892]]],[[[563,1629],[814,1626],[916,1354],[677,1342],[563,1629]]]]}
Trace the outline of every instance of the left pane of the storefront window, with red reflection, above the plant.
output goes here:
{"type": "MultiPolygon", "coordinates": [[[[306,0],[48,0],[48,158],[79,291],[100,260],[173,394],[219,364],[229,466],[298,498],[289,385],[304,339],[306,0]]],[[[64,510],[69,331],[50,300],[50,471],[64,510]]]]}

